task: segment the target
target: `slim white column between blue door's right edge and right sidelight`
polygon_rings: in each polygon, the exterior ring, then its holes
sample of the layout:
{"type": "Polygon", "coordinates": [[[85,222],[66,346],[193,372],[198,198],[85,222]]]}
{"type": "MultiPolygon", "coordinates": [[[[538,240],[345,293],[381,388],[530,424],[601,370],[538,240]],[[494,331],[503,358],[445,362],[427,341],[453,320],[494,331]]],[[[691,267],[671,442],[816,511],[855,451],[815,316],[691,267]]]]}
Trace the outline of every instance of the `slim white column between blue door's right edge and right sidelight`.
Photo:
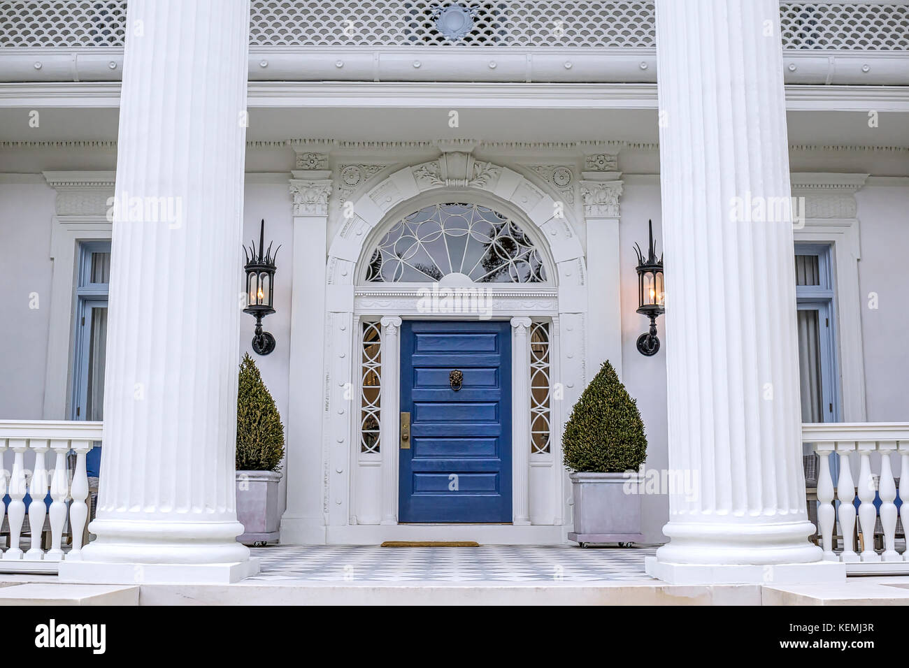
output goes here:
{"type": "Polygon", "coordinates": [[[530,523],[530,318],[512,318],[512,508],[530,523]]]}

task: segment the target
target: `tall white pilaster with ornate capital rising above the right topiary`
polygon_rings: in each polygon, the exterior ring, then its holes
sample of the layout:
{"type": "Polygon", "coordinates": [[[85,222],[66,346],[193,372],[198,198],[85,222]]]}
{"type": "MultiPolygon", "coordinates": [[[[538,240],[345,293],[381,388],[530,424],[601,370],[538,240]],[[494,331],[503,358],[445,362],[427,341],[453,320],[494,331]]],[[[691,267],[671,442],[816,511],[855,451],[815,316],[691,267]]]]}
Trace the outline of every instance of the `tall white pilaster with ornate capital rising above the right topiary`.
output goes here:
{"type": "Polygon", "coordinates": [[[595,374],[606,360],[622,375],[622,272],[619,258],[619,198],[622,173],[616,155],[584,156],[581,194],[587,222],[587,360],[595,374]]]}

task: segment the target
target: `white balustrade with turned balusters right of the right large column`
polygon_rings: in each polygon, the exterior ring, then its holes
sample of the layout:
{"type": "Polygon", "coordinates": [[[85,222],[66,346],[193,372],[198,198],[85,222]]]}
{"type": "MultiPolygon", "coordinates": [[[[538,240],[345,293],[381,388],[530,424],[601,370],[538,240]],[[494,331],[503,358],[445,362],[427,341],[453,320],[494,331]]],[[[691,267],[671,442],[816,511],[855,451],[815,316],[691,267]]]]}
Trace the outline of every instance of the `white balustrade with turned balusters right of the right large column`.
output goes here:
{"type": "Polygon", "coordinates": [[[846,573],[909,573],[905,535],[901,536],[903,553],[896,549],[897,515],[902,518],[904,533],[909,520],[909,423],[804,424],[802,439],[806,444],[813,444],[821,459],[817,528],[824,559],[850,564],[846,573]],[[837,464],[831,456],[834,454],[839,458],[835,487],[832,471],[837,464]],[[858,455],[856,479],[854,454],[858,455]],[[900,459],[898,479],[894,476],[895,454],[900,459]],[[874,470],[880,473],[874,474],[874,470]],[[857,513],[856,495],[860,502],[857,513]],[[895,503],[897,495],[901,503],[899,510],[895,503]],[[884,549],[880,552],[875,549],[874,541],[878,518],[884,538],[884,549]],[[837,520],[839,553],[834,551],[833,543],[837,520]],[[861,553],[854,550],[856,530],[861,535],[861,553]]]}

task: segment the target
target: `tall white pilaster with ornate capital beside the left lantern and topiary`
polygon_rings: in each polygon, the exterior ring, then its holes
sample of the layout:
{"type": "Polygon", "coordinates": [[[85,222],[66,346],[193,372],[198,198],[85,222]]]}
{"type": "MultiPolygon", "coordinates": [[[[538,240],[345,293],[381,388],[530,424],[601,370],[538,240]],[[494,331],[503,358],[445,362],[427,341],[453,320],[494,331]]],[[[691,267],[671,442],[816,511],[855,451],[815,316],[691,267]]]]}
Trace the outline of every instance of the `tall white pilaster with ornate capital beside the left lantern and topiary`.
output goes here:
{"type": "Polygon", "coordinates": [[[294,286],[290,329],[290,414],[287,418],[287,507],[281,517],[282,543],[325,543],[322,402],[317,388],[325,379],[325,257],[328,198],[328,145],[295,146],[290,192],[294,203],[294,286]]]}

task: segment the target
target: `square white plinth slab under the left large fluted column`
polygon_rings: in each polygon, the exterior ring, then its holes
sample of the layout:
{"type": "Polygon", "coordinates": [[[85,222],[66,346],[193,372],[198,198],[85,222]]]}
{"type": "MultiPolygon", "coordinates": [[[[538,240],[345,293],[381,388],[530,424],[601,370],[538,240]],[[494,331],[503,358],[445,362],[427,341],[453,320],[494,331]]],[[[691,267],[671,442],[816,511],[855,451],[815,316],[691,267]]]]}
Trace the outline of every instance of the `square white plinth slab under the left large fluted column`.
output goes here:
{"type": "Polygon", "coordinates": [[[235,563],[60,563],[59,581],[95,584],[230,584],[259,572],[259,560],[235,563]]]}

